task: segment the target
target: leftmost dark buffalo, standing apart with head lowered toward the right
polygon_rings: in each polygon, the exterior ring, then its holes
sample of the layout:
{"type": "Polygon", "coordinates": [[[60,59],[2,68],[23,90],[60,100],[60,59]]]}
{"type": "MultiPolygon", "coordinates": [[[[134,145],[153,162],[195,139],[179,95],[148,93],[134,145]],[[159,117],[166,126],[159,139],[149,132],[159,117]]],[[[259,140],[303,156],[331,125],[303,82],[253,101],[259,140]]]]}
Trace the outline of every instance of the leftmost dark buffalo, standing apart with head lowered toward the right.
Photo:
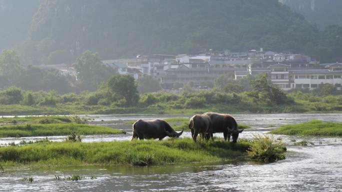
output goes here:
{"type": "MultiPolygon", "coordinates": [[[[184,128],[183,128],[184,130],[184,128]]],[[[164,137],[178,138],[183,130],[179,133],[175,132],[168,123],[164,120],[137,120],[133,124],[133,137],[143,139],[159,139],[162,140],[164,137]]]]}

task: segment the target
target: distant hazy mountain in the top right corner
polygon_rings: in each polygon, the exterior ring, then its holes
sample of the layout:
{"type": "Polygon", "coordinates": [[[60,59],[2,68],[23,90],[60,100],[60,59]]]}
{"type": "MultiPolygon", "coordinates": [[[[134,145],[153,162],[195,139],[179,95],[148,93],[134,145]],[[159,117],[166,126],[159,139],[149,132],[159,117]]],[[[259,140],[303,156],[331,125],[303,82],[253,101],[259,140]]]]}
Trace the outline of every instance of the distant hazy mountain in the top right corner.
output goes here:
{"type": "Polygon", "coordinates": [[[342,24],[342,0],[280,0],[319,28],[342,24]]]}

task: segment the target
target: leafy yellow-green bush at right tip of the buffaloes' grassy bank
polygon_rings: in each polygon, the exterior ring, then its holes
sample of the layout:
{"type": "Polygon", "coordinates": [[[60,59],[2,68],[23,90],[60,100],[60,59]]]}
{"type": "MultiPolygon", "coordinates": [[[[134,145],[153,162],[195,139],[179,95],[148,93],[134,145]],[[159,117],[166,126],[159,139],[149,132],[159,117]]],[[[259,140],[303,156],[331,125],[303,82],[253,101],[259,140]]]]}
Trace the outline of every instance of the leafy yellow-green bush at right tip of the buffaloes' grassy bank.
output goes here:
{"type": "Polygon", "coordinates": [[[248,157],[262,162],[274,162],[285,159],[286,147],[272,136],[254,135],[252,145],[247,151],[248,157]]]}

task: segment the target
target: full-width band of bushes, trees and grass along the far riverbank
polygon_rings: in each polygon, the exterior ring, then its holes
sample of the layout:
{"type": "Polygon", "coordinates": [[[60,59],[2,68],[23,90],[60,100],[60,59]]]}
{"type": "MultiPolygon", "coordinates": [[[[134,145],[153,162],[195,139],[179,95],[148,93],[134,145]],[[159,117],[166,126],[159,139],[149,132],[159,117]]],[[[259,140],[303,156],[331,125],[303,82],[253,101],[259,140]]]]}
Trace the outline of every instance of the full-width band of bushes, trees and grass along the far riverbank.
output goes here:
{"type": "Polygon", "coordinates": [[[333,93],[337,94],[329,84],[315,92],[285,93],[262,74],[227,82],[225,87],[213,90],[190,88],[179,94],[159,91],[139,95],[132,77],[114,75],[97,91],[79,94],[59,95],[55,91],[32,92],[9,87],[0,91],[0,115],[341,112],[342,96],[327,95],[333,93]],[[231,90],[241,85],[244,87],[231,90]]]}

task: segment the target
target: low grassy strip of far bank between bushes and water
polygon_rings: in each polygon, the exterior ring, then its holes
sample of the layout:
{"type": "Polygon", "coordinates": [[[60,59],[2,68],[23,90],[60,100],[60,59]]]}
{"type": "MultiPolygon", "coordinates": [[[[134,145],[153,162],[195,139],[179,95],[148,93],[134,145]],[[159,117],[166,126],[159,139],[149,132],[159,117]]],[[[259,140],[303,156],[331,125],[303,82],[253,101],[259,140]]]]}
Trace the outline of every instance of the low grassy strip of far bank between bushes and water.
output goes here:
{"type": "Polygon", "coordinates": [[[107,105],[85,105],[74,103],[57,103],[53,106],[40,105],[0,105],[0,116],[10,115],[89,115],[89,114],[202,114],[207,111],[218,113],[340,113],[340,103],[308,102],[295,100],[293,103],[268,105],[252,101],[206,103],[200,107],[184,107],[172,102],[137,107],[117,107],[107,105]]]}

